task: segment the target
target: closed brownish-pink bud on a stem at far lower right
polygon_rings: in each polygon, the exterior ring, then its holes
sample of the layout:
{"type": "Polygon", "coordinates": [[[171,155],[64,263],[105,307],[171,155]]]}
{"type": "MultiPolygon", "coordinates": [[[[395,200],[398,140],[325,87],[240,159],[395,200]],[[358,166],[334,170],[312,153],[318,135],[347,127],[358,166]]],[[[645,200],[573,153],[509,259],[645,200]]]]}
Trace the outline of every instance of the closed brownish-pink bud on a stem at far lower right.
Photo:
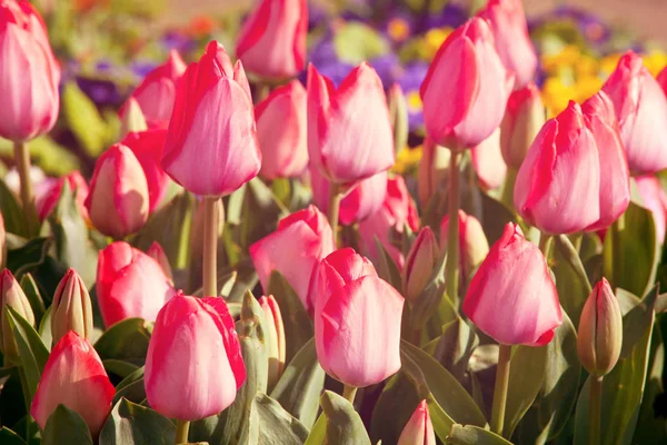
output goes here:
{"type": "Polygon", "coordinates": [[[623,315],[606,278],[595,286],[586,300],[577,334],[581,365],[597,377],[608,374],[620,356],[623,315]]]}

